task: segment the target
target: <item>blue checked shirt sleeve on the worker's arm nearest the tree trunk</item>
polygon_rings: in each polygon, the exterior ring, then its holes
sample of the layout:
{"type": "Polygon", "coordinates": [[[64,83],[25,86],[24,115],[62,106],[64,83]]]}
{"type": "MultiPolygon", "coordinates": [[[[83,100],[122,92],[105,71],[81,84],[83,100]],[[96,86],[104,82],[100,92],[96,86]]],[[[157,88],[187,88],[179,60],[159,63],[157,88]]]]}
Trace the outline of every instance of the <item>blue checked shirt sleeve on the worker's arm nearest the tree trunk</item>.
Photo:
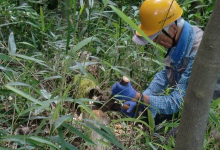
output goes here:
{"type": "MultiPolygon", "coordinates": [[[[155,96],[152,94],[153,93],[152,89],[151,90],[146,89],[143,92],[144,95],[145,93],[146,95],[149,95],[149,105],[150,105],[149,109],[153,117],[155,117],[157,113],[168,115],[179,111],[179,108],[182,104],[182,100],[186,94],[186,90],[188,87],[193,61],[194,61],[194,57],[190,57],[186,70],[181,75],[181,78],[178,81],[175,89],[169,95],[155,96]]],[[[162,77],[162,76],[158,76],[158,77],[162,77]]],[[[162,81],[163,79],[164,78],[161,78],[160,80],[157,79],[157,81],[162,81]]],[[[167,80],[165,82],[167,82],[167,80]]],[[[154,87],[157,87],[157,90],[159,90],[159,88],[163,89],[165,82],[161,82],[160,84],[158,84],[160,86],[158,87],[154,86],[154,87]]]]}

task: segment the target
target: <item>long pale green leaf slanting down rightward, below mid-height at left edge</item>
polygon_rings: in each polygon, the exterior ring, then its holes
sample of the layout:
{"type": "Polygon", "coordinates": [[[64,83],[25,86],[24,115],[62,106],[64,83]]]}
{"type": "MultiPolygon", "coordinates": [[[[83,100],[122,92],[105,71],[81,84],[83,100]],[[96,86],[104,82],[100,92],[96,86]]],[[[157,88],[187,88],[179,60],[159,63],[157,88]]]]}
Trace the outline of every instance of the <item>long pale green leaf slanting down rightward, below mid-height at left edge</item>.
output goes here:
{"type": "Polygon", "coordinates": [[[39,105],[41,105],[41,106],[44,106],[44,108],[45,108],[45,107],[48,107],[48,106],[45,106],[44,103],[38,101],[37,99],[35,99],[35,98],[33,98],[32,96],[30,96],[30,95],[28,95],[28,94],[26,94],[26,93],[20,91],[20,90],[17,89],[17,88],[14,88],[14,87],[12,87],[12,86],[10,86],[10,85],[5,85],[5,87],[6,87],[7,89],[9,89],[9,90],[11,90],[11,91],[17,93],[18,95],[20,95],[20,96],[22,96],[22,97],[25,97],[26,99],[28,99],[28,100],[30,100],[30,101],[36,103],[36,104],[39,104],[39,105]]]}

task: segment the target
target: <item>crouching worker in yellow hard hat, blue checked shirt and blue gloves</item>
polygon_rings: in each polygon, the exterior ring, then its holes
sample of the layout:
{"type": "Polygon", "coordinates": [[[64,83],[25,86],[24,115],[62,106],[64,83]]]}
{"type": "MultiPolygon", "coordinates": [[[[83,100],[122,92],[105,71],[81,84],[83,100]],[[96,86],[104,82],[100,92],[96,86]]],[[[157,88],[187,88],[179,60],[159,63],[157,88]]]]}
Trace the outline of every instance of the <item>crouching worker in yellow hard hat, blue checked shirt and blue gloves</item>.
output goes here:
{"type": "MultiPolygon", "coordinates": [[[[173,0],[145,0],[139,13],[139,28],[153,42],[167,49],[165,67],[155,75],[144,92],[136,92],[131,83],[123,86],[116,82],[112,93],[118,95],[116,98],[126,100],[125,104],[130,108],[122,109],[122,112],[131,117],[134,117],[137,100],[149,105],[155,124],[158,124],[164,119],[171,119],[172,114],[180,109],[203,31],[181,18],[183,11],[173,0]],[[172,87],[173,91],[162,95],[167,87],[172,87]]],[[[138,32],[132,40],[140,45],[148,43],[138,32]]]]}

